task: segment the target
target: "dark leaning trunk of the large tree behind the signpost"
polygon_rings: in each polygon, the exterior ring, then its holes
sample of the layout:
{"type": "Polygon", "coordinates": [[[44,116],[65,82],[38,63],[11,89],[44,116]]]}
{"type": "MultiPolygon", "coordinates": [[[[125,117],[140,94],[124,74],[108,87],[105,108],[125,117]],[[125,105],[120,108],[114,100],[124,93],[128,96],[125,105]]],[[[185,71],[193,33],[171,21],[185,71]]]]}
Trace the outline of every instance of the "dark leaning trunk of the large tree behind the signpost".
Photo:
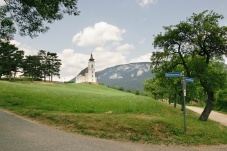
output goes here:
{"type": "Polygon", "coordinates": [[[208,95],[207,104],[199,117],[199,120],[201,121],[207,121],[211,111],[213,110],[215,103],[214,92],[213,91],[207,92],[207,95],[208,95]]]}

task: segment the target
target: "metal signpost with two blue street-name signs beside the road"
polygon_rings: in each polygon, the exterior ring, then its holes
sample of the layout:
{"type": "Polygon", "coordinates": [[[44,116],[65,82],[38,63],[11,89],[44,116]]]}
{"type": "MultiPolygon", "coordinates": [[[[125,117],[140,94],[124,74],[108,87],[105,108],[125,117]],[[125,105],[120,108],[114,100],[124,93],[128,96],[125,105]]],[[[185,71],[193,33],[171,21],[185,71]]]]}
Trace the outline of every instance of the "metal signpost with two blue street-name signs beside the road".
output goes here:
{"type": "Polygon", "coordinates": [[[167,77],[167,78],[182,77],[182,89],[183,89],[183,95],[184,95],[184,102],[183,102],[183,109],[184,109],[184,133],[186,134],[186,107],[185,107],[186,83],[187,82],[194,82],[194,78],[184,77],[184,71],[182,71],[182,72],[167,72],[167,73],[165,73],[165,77],[167,77]]]}

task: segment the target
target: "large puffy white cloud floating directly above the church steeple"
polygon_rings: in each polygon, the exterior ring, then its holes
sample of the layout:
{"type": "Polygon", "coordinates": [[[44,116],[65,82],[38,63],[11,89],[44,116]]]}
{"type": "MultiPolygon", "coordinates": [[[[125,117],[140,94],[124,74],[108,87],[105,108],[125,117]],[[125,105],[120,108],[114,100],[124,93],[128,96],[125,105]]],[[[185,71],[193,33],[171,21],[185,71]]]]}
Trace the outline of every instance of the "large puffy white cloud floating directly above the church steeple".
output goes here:
{"type": "Polygon", "coordinates": [[[108,41],[121,41],[124,29],[119,29],[106,22],[96,23],[93,27],[86,27],[73,37],[73,43],[78,46],[102,46],[108,41]]]}

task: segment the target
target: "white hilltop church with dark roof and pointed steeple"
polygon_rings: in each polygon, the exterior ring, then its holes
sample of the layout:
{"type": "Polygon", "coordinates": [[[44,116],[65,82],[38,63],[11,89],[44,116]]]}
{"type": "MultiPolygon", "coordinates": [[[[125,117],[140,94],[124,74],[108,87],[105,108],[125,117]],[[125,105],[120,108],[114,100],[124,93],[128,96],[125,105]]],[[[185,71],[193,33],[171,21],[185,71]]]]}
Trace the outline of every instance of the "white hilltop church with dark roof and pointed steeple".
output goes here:
{"type": "Polygon", "coordinates": [[[88,67],[82,70],[76,77],[75,80],[76,83],[82,83],[82,82],[96,82],[95,77],[95,59],[93,58],[93,55],[91,54],[91,57],[88,61],[88,67]]]}

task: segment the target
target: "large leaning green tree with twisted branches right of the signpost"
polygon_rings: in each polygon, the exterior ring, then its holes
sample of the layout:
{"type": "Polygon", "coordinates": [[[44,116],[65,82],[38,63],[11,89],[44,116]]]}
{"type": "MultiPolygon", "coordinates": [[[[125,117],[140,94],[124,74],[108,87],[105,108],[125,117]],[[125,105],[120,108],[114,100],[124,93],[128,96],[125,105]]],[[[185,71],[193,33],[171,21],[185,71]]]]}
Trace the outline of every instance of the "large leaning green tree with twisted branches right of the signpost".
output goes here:
{"type": "Polygon", "coordinates": [[[164,27],[165,33],[158,34],[154,47],[163,52],[154,52],[151,56],[153,68],[174,59],[174,66],[182,66],[186,76],[198,78],[208,100],[200,120],[206,121],[215,103],[215,92],[219,88],[218,72],[214,70],[212,61],[223,60],[227,56],[227,27],[219,26],[223,19],[213,11],[193,14],[186,21],[177,25],[164,27]]]}

